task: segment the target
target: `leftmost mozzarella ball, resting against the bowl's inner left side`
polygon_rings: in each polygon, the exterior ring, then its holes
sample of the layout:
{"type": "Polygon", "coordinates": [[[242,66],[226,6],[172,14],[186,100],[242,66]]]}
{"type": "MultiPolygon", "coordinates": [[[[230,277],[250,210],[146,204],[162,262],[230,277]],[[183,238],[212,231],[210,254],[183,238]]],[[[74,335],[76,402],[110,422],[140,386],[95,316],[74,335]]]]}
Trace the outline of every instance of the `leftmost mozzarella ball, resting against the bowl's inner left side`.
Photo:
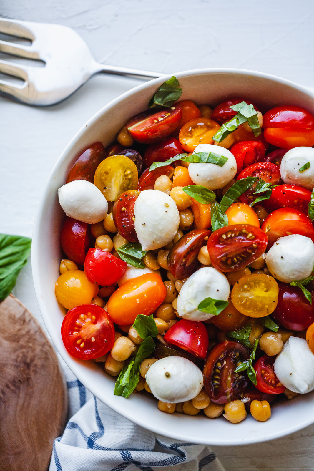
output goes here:
{"type": "Polygon", "coordinates": [[[58,189],[59,203],[67,216],[96,224],[105,219],[108,203],[93,183],[74,180],[58,189]]]}

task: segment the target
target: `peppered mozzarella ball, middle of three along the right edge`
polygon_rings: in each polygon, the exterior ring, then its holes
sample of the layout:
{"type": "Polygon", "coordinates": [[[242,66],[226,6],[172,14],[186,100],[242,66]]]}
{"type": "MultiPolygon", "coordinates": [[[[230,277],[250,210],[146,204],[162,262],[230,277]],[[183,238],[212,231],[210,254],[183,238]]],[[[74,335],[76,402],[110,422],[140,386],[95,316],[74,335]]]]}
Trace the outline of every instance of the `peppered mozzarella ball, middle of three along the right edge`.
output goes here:
{"type": "Polygon", "coordinates": [[[311,275],[314,267],[314,244],[300,234],[280,237],[266,254],[266,265],[279,281],[291,283],[311,275]]]}

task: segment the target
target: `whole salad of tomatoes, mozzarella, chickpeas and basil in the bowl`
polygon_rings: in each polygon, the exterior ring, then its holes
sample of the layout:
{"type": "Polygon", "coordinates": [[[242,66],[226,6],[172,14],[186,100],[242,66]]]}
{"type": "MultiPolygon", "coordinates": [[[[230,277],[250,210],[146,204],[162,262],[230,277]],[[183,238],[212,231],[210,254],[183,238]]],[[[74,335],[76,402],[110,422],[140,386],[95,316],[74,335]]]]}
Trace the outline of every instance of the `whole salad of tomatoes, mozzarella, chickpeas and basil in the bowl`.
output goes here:
{"type": "Polygon", "coordinates": [[[263,422],[314,390],[314,116],[181,93],[165,82],[58,190],[62,339],[116,395],[263,422]]]}

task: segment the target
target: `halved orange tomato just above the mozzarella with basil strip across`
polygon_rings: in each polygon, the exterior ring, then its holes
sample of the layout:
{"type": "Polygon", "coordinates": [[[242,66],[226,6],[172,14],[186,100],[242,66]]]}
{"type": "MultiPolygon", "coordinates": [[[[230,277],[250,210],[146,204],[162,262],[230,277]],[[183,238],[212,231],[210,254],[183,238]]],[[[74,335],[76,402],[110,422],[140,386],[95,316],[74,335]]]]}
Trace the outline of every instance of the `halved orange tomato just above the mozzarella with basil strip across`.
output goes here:
{"type": "Polygon", "coordinates": [[[220,129],[219,124],[209,118],[194,118],[185,123],[179,132],[179,141],[183,149],[193,152],[199,144],[213,144],[212,137],[220,129]]]}

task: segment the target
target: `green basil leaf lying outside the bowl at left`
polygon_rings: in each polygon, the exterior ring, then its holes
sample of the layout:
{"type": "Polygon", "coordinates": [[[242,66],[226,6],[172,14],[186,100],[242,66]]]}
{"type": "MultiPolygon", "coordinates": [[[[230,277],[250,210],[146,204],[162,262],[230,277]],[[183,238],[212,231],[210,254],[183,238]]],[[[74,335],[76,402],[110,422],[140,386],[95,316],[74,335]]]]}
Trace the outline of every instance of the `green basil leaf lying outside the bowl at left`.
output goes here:
{"type": "Polygon", "coordinates": [[[31,244],[28,237],[0,234],[0,301],[15,286],[17,275],[27,263],[31,244]]]}

